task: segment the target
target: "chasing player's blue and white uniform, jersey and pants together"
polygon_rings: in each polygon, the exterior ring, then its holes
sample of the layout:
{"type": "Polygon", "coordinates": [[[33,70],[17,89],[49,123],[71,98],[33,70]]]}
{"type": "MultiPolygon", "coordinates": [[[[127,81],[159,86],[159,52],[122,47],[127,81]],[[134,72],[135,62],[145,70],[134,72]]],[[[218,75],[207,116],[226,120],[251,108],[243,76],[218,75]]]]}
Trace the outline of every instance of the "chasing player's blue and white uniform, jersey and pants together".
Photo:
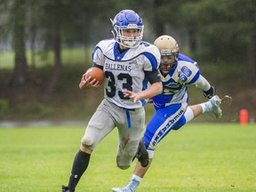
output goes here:
{"type": "MultiPolygon", "coordinates": [[[[154,151],[157,143],[171,132],[186,124],[188,108],[188,84],[194,84],[200,78],[195,60],[179,54],[178,62],[165,76],[160,74],[164,90],[153,97],[156,114],[148,122],[143,140],[149,151],[154,151]]],[[[151,152],[149,156],[151,156],[151,152]]]]}

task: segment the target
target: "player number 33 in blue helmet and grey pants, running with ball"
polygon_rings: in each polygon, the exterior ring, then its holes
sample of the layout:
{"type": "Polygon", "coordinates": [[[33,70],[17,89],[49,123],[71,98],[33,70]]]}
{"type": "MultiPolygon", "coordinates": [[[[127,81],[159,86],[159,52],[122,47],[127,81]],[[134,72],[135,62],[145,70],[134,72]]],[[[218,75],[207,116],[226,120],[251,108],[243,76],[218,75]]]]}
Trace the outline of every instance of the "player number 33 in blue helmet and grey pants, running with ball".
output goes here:
{"type": "MultiPolygon", "coordinates": [[[[115,127],[119,136],[117,166],[123,170],[130,167],[139,143],[138,160],[144,167],[149,162],[148,152],[140,141],[145,126],[143,106],[148,98],[163,91],[158,71],[161,55],[156,45],[142,41],[144,26],[136,12],[123,10],[111,21],[114,38],[100,41],[92,53],[93,67],[101,68],[105,73],[104,100],[85,129],[68,186],[62,186],[62,192],[75,191],[93,149],[115,127]],[[147,86],[148,82],[150,86],[147,86]]],[[[82,90],[98,86],[96,79],[85,79],[85,74],[79,84],[82,90]]]]}

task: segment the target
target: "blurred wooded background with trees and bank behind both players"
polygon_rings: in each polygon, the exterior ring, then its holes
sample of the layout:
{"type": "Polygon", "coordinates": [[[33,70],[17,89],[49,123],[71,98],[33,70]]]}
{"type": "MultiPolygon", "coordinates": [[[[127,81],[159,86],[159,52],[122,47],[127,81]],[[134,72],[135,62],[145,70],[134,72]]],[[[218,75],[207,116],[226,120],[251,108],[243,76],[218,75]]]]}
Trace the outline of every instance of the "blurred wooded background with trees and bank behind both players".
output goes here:
{"type": "MultiPolygon", "coordinates": [[[[173,36],[220,96],[233,97],[223,120],[237,120],[239,109],[248,108],[253,121],[253,0],[0,0],[0,120],[90,116],[81,111],[97,106],[101,98],[93,93],[101,91],[79,92],[77,84],[92,65],[93,47],[112,37],[109,19],[123,9],[140,14],[144,40],[173,36]]],[[[204,100],[197,90],[190,94],[191,103],[204,100]]]]}

